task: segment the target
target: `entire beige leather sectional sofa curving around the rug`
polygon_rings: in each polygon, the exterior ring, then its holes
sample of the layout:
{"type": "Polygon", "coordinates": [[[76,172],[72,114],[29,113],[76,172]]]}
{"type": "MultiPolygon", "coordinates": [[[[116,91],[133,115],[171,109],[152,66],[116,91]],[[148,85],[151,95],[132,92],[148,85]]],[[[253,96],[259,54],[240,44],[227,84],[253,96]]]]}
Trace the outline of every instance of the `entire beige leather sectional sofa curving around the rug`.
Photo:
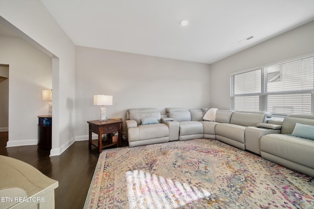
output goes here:
{"type": "Polygon", "coordinates": [[[130,109],[127,117],[130,147],[217,139],[314,177],[314,140],[287,135],[293,133],[296,123],[314,126],[314,115],[290,115],[281,122],[271,120],[266,112],[218,110],[215,121],[204,121],[201,109],[166,108],[161,115],[155,108],[139,108],[130,109]],[[145,117],[156,117],[158,123],[143,125],[145,117]]]}

